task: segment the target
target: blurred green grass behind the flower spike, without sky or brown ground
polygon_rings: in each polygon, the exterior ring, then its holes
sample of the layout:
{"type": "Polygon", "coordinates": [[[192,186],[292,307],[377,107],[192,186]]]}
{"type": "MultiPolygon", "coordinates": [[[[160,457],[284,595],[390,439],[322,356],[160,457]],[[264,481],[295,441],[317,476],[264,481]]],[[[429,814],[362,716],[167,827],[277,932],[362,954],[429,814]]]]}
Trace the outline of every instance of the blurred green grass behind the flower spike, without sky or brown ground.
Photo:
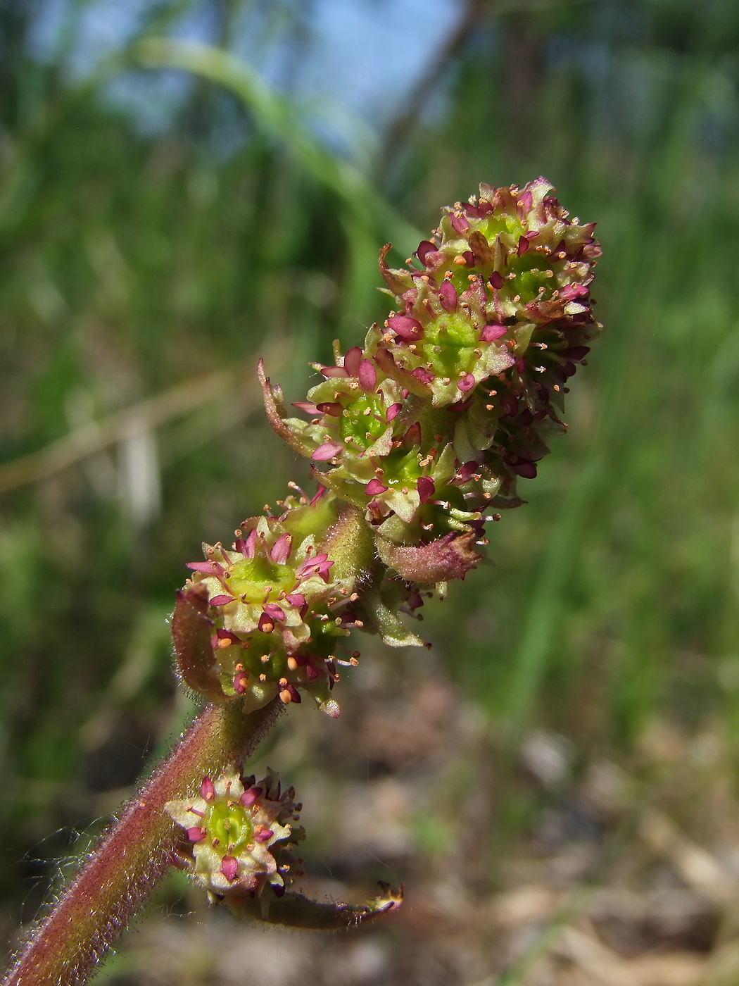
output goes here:
{"type": "MultiPolygon", "coordinates": [[[[537,723],[628,751],[656,718],[712,717],[734,740],[739,9],[476,6],[402,141],[349,180],[295,109],[247,90],[201,80],[166,132],[142,132],[104,98],[115,73],[154,71],[135,44],[75,82],[63,53],[34,61],[31,13],[0,4],[1,460],[245,374],[275,340],[297,399],[305,361],[382,314],[382,243],[407,250],[399,237],[481,180],[544,174],[598,221],[605,331],[570,436],[492,531],[495,567],[429,606],[428,632],[506,736],[537,723]]],[[[0,825],[8,868],[27,860],[5,883],[14,919],[65,851],[39,840],[112,810],[186,714],[164,622],[184,562],[305,478],[244,387],[2,494],[0,825]]]]}

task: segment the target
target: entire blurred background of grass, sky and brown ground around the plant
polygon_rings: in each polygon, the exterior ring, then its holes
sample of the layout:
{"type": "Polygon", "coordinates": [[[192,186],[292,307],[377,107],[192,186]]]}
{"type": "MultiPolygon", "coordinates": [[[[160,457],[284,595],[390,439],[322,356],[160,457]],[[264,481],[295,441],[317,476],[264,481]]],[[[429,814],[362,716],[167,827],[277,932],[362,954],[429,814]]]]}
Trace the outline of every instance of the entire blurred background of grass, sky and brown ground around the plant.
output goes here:
{"type": "Polygon", "coordinates": [[[379,246],[543,174],[604,251],[570,435],[432,651],[358,639],[254,765],[306,892],[406,904],[265,932],[172,877],[96,981],[739,982],[738,87],[735,0],[0,0],[8,949],[192,715],[184,563],[306,480],[257,358],[300,399],[379,246]]]}

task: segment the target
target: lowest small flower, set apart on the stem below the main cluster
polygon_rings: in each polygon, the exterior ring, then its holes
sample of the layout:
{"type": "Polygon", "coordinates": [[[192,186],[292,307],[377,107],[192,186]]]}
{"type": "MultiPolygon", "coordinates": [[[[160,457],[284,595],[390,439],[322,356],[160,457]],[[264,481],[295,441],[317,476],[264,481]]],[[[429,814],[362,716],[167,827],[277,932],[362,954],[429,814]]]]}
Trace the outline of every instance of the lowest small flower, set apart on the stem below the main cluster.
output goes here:
{"type": "Polygon", "coordinates": [[[204,777],[199,796],[165,806],[183,830],[190,876],[214,900],[259,896],[268,884],[285,892],[297,862],[292,849],[304,837],[292,824],[301,808],[271,771],[258,784],[237,771],[204,777]]]}

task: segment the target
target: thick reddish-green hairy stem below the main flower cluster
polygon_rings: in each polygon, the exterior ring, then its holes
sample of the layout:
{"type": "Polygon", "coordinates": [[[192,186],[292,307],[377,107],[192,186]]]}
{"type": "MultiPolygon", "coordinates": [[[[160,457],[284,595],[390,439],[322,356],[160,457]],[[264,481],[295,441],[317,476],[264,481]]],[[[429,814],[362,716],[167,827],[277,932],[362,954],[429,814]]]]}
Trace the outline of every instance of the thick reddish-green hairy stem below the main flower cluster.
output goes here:
{"type": "Polygon", "coordinates": [[[276,699],[244,716],[240,702],[206,706],[64,889],[2,986],[84,983],[170,866],[174,833],[165,804],[252,753],[280,708],[276,699]]]}

